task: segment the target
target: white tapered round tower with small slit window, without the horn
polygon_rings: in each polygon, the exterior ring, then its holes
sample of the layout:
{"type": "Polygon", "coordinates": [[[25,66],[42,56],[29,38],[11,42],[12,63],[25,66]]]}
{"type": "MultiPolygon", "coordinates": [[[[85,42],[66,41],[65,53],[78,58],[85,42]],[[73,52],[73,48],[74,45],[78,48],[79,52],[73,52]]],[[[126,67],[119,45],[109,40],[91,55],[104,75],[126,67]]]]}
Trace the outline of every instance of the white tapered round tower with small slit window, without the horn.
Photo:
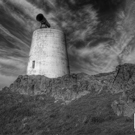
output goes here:
{"type": "Polygon", "coordinates": [[[57,78],[69,74],[64,33],[60,30],[42,28],[33,33],[28,75],[45,75],[57,78]]]}

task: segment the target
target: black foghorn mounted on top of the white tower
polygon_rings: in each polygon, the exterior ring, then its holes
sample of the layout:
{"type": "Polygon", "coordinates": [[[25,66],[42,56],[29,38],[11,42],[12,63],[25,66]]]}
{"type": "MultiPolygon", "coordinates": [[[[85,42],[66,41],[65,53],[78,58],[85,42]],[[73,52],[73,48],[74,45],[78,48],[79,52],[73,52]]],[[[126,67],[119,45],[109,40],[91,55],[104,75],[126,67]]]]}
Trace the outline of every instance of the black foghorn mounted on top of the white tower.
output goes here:
{"type": "Polygon", "coordinates": [[[46,18],[43,16],[43,14],[38,14],[38,15],[36,16],[36,20],[41,23],[40,28],[50,28],[50,27],[51,27],[51,25],[50,25],[49,22],[46,20],[46,18]]]}

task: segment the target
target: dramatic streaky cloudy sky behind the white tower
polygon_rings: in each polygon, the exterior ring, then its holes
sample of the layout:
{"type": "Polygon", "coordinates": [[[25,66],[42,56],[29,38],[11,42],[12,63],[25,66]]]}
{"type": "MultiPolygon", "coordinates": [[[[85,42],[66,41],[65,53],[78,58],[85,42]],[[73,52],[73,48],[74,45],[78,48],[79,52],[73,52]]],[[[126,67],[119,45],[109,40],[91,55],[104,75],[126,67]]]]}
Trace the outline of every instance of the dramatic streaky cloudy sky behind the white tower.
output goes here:
{"type": "Polygon", "coordinates": [[[0,88],[26,74],[38,13],[65,32],[71,72],[135,63],[134,0],[0,0],[0,88]]]}

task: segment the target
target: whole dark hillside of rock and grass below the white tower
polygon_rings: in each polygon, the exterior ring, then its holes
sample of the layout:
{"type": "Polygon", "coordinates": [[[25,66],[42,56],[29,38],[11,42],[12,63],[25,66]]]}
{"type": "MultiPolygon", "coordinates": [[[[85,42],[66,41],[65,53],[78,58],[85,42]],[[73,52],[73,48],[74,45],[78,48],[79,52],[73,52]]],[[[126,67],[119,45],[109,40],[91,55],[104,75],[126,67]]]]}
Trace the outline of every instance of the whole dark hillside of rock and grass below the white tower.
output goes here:
{"type": "Polygon", "coordinates": [[[19,76],[0,92],[2,135],[133,135],[135,65],[89,76],[19,76]]]}

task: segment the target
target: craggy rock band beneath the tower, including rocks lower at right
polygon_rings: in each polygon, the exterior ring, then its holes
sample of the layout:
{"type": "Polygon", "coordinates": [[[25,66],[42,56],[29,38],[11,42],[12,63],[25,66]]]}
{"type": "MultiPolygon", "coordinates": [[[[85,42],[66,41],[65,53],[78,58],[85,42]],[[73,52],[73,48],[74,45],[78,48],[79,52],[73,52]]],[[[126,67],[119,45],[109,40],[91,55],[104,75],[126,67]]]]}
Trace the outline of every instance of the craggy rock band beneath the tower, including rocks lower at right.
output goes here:
{"type": "Polygon", "coordinates": [[[92,93],[121,94],[119,99],[112,103],[112,108],[116,114],[123,115],[126,108],[133,109],[134,106],[131,103],[134,104],[135,101],[135,65],[119,65],[114,72],[92,76],[80,73],[49,79],[40,75],[20,75],[9,88],[3,89],[8,90],[32,96],[46,94],[54,97],[55,102],[61,100],[65,103],[92,93]]]}

